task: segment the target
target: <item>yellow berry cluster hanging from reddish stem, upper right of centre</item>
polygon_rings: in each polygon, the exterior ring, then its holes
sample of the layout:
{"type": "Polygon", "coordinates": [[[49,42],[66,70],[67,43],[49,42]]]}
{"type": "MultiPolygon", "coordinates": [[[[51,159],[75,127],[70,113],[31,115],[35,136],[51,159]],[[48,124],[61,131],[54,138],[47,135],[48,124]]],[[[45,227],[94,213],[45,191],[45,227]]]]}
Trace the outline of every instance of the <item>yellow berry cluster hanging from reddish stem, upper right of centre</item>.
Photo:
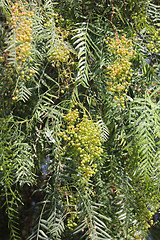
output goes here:
{"type": "Polygon", "coordinates": [[[117,106],[125,108],[126,92],[132,78],[131,59],[135,58],[132,40],[125,36],[119,38],[104,39],[111,54],[111,65],[106,66],[108,91],[115,93],[114,99],[117,106]]]}

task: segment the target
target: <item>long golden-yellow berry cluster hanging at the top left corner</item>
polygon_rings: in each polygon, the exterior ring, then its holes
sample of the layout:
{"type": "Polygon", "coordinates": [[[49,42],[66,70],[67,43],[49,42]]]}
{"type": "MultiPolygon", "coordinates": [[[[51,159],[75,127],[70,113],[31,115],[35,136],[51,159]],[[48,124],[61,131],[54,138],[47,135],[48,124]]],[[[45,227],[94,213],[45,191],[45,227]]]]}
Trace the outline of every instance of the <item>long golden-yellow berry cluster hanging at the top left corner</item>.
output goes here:
{"type": "MultiPolygon", "coordinates": [[[[23,71],[24,63],[31,55],[31,41],[32,41],[32,16],[33,10],[26,10],[28,2],[23,5],[22,2],[17,1],[11,3],[11,18],[10,26],[13,29],[11,41],[15,41],[15,54],[16,54],[16,70],[20,73],[23,80],[29,80],[35,73],[31,69],[25,67],[25,73],[23,71]],[[26,5],[26,6],[25,6],[26,5]]],[[[12,44],[12,42],[11,42],[12,44]]],[[[33,59],[30,57],[29,61],[33,59]]]]}

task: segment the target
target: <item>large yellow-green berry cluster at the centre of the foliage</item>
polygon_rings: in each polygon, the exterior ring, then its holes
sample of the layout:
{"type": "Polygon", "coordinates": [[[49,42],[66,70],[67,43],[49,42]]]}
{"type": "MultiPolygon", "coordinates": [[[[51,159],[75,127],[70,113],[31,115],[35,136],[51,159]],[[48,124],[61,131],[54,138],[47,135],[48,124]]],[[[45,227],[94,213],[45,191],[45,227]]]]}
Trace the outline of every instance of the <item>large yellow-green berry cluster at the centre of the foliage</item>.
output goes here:
{"type": "Polygon", "coordinates": [[[95,162],[101,159],[103,152],[100,130],[85,113],[80,120],[77,109],[66,114],[64,120],[66,129],[60,134],[66,142],[63,150],[76,161],[79,171],[88,181],[97,172],[95,162]]]}

